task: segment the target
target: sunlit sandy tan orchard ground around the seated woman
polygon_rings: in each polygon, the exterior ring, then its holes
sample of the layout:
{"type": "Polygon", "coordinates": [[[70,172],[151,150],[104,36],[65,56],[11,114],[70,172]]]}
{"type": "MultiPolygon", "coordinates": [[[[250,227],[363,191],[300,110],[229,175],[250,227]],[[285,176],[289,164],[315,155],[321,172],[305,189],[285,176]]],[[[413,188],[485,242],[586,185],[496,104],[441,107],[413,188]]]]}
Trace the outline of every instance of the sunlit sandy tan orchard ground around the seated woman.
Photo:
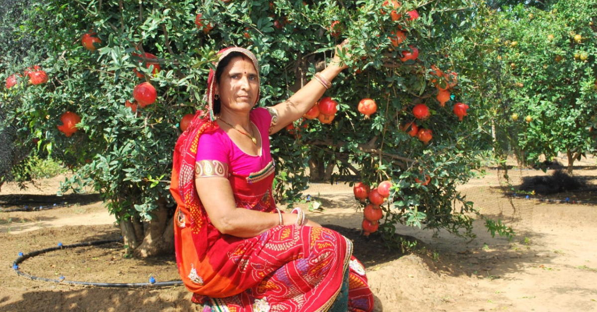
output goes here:
{"type": "MultiPolygon", "coordinates": [[[[595,159],[576,164],[575,175],[583,177],[587,187],[594,187],[595,159]]],[[[529,169],[513,169],[509,174],[515,186],[522,177],[545,175],[529,169]]],[[[390,251],[378,237],[360,235],[362,211],[356,211],[352,189],[341,183],[312,184],[305,194],[322,199],[325,210],[307,215],[354,241],[355,256],[367,267],[376,311],[597,311],[596,205],[513,199],[514,212],[501,193],[500,176],[496,169],[488,168],[485,177],[459,189],[482,213],[490,217],[501,213],[517,233],[511,242],[491,238],[482,222],[475,221],[478,237],[470,243],[445,231],[433,237],[432,231],[400,227],[399,233],[414,237],[411,241],[417,242],[414,249],[418,252],[390,251]]],[[[5,185],[0,201],[7,201],[7,194],[23,194],[21,200],[51,199],[62,178],[40,181],[38,188],[27,191],[5,185]],[[40,199],[40,195],[50,197],[40,199]]],[[[584,194],[583,199],[590,197],[584,194]]],[[[69,200],[95,202],[0,213],[0,311],[199,311],[182,286],[83,288],[18,277],[11,264],[19,252],[58,242],[67,245],[119,237],[113,217],[97,196],[69,200]]],[[[597,197],[592,201],[597,202],[597,197]]],[[[306,205],[303,208],[307,210],[306,205]]],[[[177,279],[174,257],[134,260],[126,257],[119,244],[50,252],[24,261],[21,270],[34,276],[63,275],[87,282],[147,282],[149,276],[158,282],[177,279]]]]}

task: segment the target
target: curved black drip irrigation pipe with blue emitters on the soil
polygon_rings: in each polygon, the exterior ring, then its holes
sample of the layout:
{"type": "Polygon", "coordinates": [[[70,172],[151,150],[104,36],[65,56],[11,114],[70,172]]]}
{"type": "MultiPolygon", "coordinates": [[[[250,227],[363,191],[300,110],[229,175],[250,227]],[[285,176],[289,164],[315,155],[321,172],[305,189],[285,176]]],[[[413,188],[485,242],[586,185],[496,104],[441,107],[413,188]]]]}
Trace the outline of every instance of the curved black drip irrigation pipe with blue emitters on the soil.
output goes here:
{"type": "Polygon", "coordinates": [[[35,257],[37,255],[45,254],[46,252],[55,251],[58,249],[66,249],[66,248],[75,248],[75,247],[84,247],[84,246],[94,246],[94,245],[101,245],[107,243],[117,243],[120,242],[120,239],[110,239],[110,240],[97,240],[96,242],[85,242],[85,243],[76,243],[72,245],[62,245],[62,243],[58,243],[56,247],[50,247],[45,249],[39,249],[38,251],[29,252],[29,254],[23,254],[19,252],[19,258],[13,262],[13,270],[16,273],[30,280],[41,280],[42,282],[51,282],[63,285],[79,285],[79,286],[95,286],[95,287],[106,287],[106,288],[143,288],[143,287],[164,287],[164,286],[180,286],[183,285],[183,281],[181,280],[170,280],[168,282],[156,282],[155,279],[152,277],[149,278],[149,283],[99,283],[99,282],[78,282],[76,280],[66,280],[64,276],[60,276],[59,279],[47,279],[45,277],[38,277],[32,276],[30,274],[24,273],[19,270],[19,264],[29,258],[35,257]]]}

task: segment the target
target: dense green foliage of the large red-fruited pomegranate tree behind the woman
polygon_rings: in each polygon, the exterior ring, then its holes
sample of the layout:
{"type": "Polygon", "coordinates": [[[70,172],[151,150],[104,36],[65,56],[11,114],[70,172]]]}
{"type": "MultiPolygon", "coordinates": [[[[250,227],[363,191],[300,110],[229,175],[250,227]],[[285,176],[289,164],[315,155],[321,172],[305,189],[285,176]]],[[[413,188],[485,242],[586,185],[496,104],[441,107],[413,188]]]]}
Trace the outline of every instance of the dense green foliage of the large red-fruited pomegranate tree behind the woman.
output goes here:
{"type": "Polygon", "coordinates": [[[469,83],[483,69],[462,66],[470,55],[459,34],[490,13],[469,0],[402,5],[373,0],[35,2],[31,18],[15,31],[35,38],[37,52],[22,61],[5,58],[2,81],[14,73],[21,76],[14,87],[2,90],[10,99],[3,105],[23,137],[38,139],[41,149],[77,168],[64,190],[93,185],[129,245],[152,254],[141,241],[159,235],[167,245],[178,126],[202,106],[215,52],[229,45],[253,51],[262,77],[259,105],[269,106],[311,79],[347,38],[342,55],[350,69],[326,93],[339,103],[334,121],[325,125],[314,119],[298,133],[281,131],[272,138],[278,199],[300,198],[308,165],[312,173],[322,165],[337,166],[340,175],[356,174],[371,186],[393,182],[380,226],[388,237],[396,223],[472,236],[467,214],[474,212],[472,203],[456,186],[472,177],[490,149],[493,115],[487,113],[491,102],[477,101],[477,87],[469,83]],[[419,18],[407,13],[413,10],[419,18]],[[84,46],[81,38],[87,33],[100,40],[88,35],[84,46]],[[412,48],[418,58],[407,60],[405,52],[412,48]],[[140,57],[144,53],[157,59],[140,57]],[[161,70],[154,74],[158,64],[161,70]],[[48,82],[28,84],[27,67],[44,70],[48,82]],[[141,82],[157,89],[158,100],[133,112],[125,103],[133,101],[133,88],[141,82]],[[436,98],[438,87],[450,92],[445,106],[436,98]],[[370,119],[357,110],[362,98],[377,103],[370,119]],[[458,110],[463,107],[458,102],[470,109],[458,110]],[[417,104],[427,106],[428,118],[413,115],[417,104]],[[66,112],[81,118],[70,137],[58,128],[66,112]],[[404,131],[411,123],[432,132],[411,136],[404,131]],[[458,210],[455,201],[461,202],[458,210]]]}

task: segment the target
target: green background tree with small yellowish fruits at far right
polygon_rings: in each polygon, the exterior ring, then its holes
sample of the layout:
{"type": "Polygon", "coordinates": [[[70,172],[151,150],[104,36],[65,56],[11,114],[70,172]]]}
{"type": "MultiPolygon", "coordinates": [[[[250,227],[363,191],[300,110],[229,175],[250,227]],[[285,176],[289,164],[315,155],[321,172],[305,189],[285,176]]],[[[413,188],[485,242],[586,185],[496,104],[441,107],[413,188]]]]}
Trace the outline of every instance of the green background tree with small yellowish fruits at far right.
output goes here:
{"type": "Polygon", "coordinates": [[[593,1],[559,1],[545,10],[523,5],[500,13],[497,58],[503,73],[500,128],[522,163],[595,151],[597,36],[593,1]]]}

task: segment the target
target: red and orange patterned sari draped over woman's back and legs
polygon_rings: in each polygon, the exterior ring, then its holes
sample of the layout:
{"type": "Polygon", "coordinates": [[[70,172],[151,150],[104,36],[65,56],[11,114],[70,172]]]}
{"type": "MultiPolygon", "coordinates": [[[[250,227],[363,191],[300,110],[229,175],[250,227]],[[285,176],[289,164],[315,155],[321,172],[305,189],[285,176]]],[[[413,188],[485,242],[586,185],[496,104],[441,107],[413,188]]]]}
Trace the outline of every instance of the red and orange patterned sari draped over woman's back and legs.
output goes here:
{"type": "MultiPolygon", "coordinates": [[[[218,125],[199,114],[176,144],[171,184],[176,260],[193,301],[204,311],[372,311],[365,270],[336,231],[278,225],[243,239],[214,227],[195,189],[195,160],[199,137],[218,125]]],[[[273,177],[272,162],[249,176],[231,174],[236,206],[276,213],[273,177]]]]}

